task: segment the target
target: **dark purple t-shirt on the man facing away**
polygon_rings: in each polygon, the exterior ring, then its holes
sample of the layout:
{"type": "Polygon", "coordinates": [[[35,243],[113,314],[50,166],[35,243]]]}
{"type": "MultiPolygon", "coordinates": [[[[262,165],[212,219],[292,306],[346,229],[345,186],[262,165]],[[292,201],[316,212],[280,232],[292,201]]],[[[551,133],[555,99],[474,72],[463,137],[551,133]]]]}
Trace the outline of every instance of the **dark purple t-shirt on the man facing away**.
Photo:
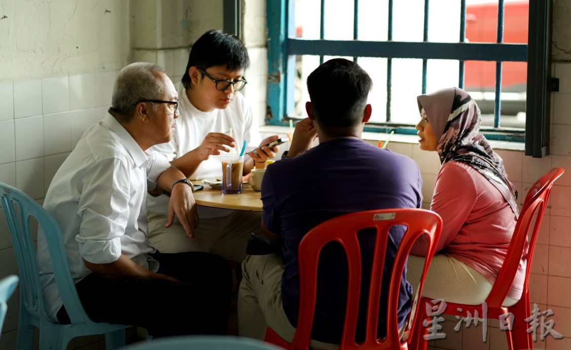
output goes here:
{"type": "MultiPolygon", "coordinates": [[[[296,158],[268,166],[262,182],[263,220],[271,232],[283,236],[282,300],[295,327],[299,309],[297,247],[301,238],[321,222],[342,214],[372,209],[420,208],[422,179],[411,158],[379,149],[357,138],[324,142],[296,158]]],[[[403,229],[391,229],[384,271],[392,268],[403,229]]],[[[360,234],[363,277],[370,276],[374,238],[360,234]]],[[[325,246],[319,262],[317,302],[312,339],[339,343],[347,296],[347,260],[335,243],[325,246]]],[[[367,300],[363,278],[361,300],[367,300]]],[[[389,273],[383,273],[379,336],[385,334],[389,273]]],[[[401,279],[399,325],[411,309],[412,288],[401,279]]],[[[366,304],[366,303],[363,303],[366,304]]],[[[366,305],[360,309],[364,325],[366,305]]],[[[363,327],[360,327],[361,329],[363,327]]]]}

